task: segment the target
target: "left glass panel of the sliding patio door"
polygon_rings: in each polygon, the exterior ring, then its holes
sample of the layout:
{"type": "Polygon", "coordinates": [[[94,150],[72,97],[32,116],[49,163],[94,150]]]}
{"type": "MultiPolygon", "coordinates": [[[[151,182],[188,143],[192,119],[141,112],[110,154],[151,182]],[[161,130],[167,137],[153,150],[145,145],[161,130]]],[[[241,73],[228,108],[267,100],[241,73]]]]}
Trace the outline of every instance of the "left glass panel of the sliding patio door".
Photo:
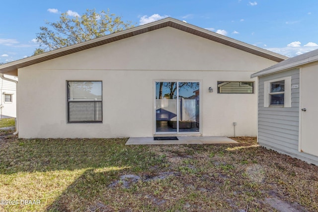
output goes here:
{"type": "Polygon", "coordinates": [[[177,82],[156,82],[156,132],[177,133],[177,82]]]}

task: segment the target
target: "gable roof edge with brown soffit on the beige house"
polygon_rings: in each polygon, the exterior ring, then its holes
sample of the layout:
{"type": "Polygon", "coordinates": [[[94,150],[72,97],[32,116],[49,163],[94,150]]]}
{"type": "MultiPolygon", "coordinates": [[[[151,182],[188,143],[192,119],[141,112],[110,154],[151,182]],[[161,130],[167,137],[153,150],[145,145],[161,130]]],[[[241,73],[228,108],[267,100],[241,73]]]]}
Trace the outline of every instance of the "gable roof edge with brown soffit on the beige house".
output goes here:
{"type": "Polygon", "coordinates": [[[159,21],[148,23],[142,26],[126,29],[120,32],[105,35],[105,36],[88,40],[82,43],[78,43],[72,46],[63,47],[63,48],[56,49],[50,52],[45,52],[39,55],[35,55],[25,59],[7,63],[0,66],[0,73],[8,73],[8,74],[11,73],[14,75],[14,74],[17,74],[18,69],[23,67],[31,66],[37,63],[41,63],[41,62],[62,57],[65,55],[73,54],[79,51],[101,46],[107,43],[122,40],[125,38],[129,38],[132,36],[150,32],[156,29],[160,29],[163,27],[172,27],[175,29],[179,29],[179,30],[191,33],[193,35],[197,35],[197,36],[239,49],[241,51],[248,52],[250,54],[254,54],[259,57],[263,57],[268,60],[275,61],[275,62],[281,62],[287,59],[287,57],[283,55],[279,55],[279,54],[270,52],[268,50],[265,50],[250,44],[246,44],[238,40],[226,37],[224,35],[220,35],[215,32],[211,32],[209,30],[191,25],[189,23],[185,23],[183,21],[168,17],[168,18],[164,18],[159,21]]]}

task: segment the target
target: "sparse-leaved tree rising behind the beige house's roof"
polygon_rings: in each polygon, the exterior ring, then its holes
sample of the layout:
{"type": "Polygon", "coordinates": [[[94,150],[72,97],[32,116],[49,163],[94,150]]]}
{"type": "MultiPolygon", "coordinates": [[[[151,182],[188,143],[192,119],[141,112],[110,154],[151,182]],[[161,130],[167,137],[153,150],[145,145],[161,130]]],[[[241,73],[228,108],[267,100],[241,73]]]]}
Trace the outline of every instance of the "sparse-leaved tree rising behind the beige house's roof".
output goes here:
{"type": "Polygon", "coordinates": [[[84,14],[73,18],[65,12],[59,21],[47,21],[46,24],[48,26],[41,26],[41,32],[36,34],[40,48],[34,51],[34,55],[134,27],[131,21],[124,22],[121,16],[110,13],[109,9],[99,13],[95,9],[86,9],[84,14]]]}

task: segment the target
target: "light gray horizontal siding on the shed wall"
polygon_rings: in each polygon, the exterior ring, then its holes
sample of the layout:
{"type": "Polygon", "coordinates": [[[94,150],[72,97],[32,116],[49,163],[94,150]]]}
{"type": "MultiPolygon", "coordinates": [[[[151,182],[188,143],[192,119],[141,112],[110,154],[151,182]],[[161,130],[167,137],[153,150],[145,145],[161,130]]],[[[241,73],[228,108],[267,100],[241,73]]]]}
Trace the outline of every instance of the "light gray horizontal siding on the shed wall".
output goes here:
{"type": "Polygon", "coordinates": [[[318,157],[299,152],[299,74],[299,69],[293,69],[259,77],[258,142],[266,148],[318,164],[318,157]],[[268,82],[279,81],[282,78],[290,78],[291,80],[291,87],[289,88],[291,91],[290,107],[286,107],[286,105],[285,107],[271,107],[266,100],[266,98],[268,99],[268,92],[266,91],[269,90],[266,85],[268,85],[268,82]],[[264,107],[264,105],[267,105],[267,107],[264,107]]]}

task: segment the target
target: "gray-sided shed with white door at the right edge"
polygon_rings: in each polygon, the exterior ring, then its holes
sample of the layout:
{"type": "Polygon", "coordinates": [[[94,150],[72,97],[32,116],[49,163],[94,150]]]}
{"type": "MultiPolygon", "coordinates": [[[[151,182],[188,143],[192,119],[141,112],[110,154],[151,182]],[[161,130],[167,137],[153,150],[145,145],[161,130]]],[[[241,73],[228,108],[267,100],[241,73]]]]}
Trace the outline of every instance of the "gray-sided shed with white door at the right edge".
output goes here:
{"type": "Polygon", "coordinates": [[[318,50],[253,73],[258,78],[258,142],[318,165],[318,50]]]}

